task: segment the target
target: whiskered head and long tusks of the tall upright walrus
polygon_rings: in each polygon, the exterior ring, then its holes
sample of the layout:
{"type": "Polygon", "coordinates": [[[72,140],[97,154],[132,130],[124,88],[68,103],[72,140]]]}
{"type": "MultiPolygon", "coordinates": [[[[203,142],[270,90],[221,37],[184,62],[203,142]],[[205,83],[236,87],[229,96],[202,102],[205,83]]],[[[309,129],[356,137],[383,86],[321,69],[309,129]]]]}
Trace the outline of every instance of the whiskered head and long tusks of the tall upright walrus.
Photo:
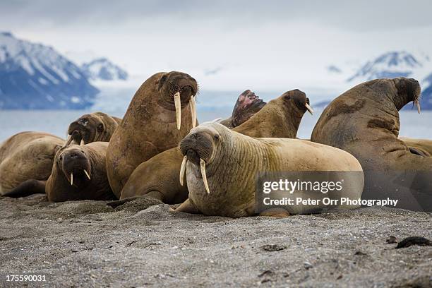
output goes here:
{"type": "Polygon", "coordinates": [[[181,108],[191,105],[192,127],[196,126],[195,96],[198,83],[186,73],[172,71],[163,73],[157,84],[163,107],[176,111],[177,129],[181,127],[181,108]]]}

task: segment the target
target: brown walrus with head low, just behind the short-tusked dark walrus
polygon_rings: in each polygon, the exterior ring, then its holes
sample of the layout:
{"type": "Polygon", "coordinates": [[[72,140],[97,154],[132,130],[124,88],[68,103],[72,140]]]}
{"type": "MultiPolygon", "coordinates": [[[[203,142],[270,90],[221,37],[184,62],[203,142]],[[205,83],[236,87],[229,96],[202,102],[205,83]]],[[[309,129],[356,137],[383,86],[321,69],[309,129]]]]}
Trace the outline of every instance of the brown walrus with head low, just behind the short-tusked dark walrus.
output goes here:
{"type": "Polygon", "coordinates": [[[78,145],[81,141],[84,144],[97,141],[109,142],[120,122],[120,118],[102,112],[84,114],[69,125],[68,135],[78,145]]]}

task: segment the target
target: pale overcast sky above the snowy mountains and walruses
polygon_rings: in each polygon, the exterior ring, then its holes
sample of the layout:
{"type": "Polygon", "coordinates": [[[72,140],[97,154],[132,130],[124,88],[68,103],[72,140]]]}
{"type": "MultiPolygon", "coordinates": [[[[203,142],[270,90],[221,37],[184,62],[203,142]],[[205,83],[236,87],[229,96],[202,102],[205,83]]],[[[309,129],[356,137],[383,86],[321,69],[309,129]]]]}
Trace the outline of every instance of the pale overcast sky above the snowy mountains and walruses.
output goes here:
{"type": "Polygon", "coordinates": [[[351,76],[390,50],[432,56],[431,0],[2,0],[0,29],[142,80],[186,71],[203,89],[339,89],[331,64],[351,76]]]}

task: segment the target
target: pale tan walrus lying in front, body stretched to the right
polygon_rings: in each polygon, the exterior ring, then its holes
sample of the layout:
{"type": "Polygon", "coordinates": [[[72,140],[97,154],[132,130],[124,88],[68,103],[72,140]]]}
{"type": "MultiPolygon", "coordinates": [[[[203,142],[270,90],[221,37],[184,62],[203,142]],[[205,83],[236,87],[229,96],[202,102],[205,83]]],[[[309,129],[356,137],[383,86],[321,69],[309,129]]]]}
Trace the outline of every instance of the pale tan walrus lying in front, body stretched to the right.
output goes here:
{"type": "MultiPolygon", "coordinates": [[[[176,212],[224,217],[256,215],[256,177],[263,172],[356,172],[344,179],[338,193],[296,191],[297,197],[360,198],[363,173],[349,153],[327,145],[288,138],[251,138],[217,123],[193,128],[179,144],[184,161],[180,179],[186,174],[189,196],[176,212]]],[[[359,205],[335,205],[357,208],[359,205]]],[[[285,211],[261,215],[304,214],[325,208],[317,205],[287,205],[285,211]]]]}

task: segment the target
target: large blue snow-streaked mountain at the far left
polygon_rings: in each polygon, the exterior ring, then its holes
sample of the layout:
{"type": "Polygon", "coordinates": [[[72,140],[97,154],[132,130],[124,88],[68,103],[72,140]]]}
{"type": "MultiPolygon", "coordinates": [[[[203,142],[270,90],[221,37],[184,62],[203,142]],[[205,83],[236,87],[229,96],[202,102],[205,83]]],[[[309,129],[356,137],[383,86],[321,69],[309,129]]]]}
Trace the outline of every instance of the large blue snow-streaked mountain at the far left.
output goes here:
{"type": "Polygon", "coordinates": [[[52,47],[0,32],[0,109],[83,109],[98,92],[52,47]]]}

